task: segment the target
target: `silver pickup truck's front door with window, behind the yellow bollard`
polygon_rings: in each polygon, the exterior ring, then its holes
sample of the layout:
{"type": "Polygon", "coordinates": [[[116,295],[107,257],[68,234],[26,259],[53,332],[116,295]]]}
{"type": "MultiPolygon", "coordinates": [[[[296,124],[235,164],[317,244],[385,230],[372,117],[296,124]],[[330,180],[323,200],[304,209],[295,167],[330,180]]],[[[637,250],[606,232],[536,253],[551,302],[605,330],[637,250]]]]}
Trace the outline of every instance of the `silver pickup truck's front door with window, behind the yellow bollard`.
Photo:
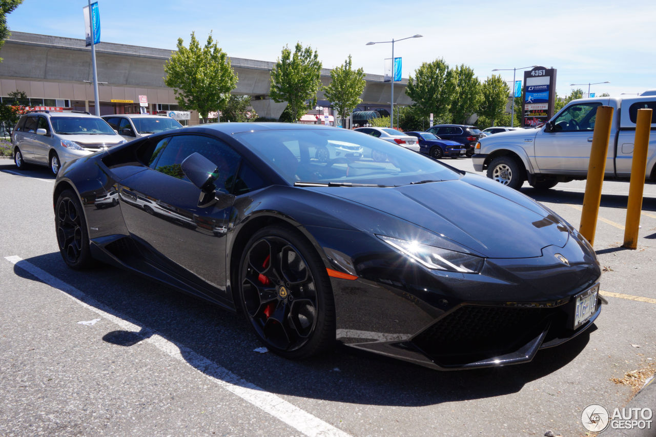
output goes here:
{"type": "MultiPolygon", "coordinates": [[[[568,106],[535,135],[535,163],[541,171],[579,175],[588,171],[592,133],[601,102],[568,106]]],[[[610,152],[610,150],[609,150],[610,152]]],[[[612,165],[608,167],[612,173],[612,165]]]]}

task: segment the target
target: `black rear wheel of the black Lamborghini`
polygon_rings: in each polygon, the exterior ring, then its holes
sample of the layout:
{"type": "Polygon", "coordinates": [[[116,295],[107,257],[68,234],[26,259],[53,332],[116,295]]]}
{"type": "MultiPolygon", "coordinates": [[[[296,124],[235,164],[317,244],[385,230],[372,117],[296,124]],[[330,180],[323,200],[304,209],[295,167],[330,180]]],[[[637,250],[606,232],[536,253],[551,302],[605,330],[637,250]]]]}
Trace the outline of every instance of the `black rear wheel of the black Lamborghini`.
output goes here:
{"type": "Polygon", "coordinates": [[[59,251],[66,264],[75,269],[90,267],[93,259],[87,220],[77,195],[71,190],[62,192],[55,203],[54,224],[59,251]]]}

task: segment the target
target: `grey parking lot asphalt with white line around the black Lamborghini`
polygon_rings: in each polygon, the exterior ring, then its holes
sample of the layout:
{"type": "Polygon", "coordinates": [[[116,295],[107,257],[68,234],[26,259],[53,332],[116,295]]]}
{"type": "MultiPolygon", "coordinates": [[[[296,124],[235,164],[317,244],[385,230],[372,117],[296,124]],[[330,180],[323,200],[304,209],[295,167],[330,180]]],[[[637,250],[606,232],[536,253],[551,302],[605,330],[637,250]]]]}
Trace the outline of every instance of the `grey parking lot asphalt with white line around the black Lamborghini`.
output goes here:
{"type": "MultiPolygon", "coordinates": [[[[261,354],[239,315],[112,267],[70,270],[53,182],[0,160],[3,436],[585,436],[583,409],[625,406],[632,389],[612,379],[656,362],[656,185],[630,251],[628,183],[604,182],[594,248],[609,304],[593,329],[529,364],[439,372],[342,347],[304,362],[261,354]]],[[[584,184],[522,192],[578,226],[584,184]]]]}

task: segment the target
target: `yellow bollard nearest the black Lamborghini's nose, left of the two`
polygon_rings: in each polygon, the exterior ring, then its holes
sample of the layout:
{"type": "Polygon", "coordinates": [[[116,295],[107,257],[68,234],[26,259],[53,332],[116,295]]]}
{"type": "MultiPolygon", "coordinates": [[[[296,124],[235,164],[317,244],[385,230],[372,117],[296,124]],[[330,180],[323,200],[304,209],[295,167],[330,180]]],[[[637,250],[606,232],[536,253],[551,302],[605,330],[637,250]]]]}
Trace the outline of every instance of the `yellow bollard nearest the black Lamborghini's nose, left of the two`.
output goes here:
{"type": "Polygon", "coordinates": [[[590,148],[588,178],[585,182],[585,194],[583,196],[581,226],[579,228],[579,232],[581,232],[584,238],[590,241],[590,245],[594,245],[597,215],[599,214],[599,204],[602,201],[602,182],[604,182],[608,139],[611,136],[612,121],[612,106],[600,106],[597,108],[594,133],[592,133],[592,148],[590,148]]]}

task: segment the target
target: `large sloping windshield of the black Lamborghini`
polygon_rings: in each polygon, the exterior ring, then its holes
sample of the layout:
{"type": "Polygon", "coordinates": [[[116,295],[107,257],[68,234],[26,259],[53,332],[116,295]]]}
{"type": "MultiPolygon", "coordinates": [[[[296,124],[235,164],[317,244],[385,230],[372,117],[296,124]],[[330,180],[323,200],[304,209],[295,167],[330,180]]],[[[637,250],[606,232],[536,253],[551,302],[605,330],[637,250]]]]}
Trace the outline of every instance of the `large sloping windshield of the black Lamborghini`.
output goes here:
{"type": "Polygon", "coordinates": [[[417,152],[346,129],[281,129],[235,136],[290,185],[400,186],[459,177],[417,152]]]}

